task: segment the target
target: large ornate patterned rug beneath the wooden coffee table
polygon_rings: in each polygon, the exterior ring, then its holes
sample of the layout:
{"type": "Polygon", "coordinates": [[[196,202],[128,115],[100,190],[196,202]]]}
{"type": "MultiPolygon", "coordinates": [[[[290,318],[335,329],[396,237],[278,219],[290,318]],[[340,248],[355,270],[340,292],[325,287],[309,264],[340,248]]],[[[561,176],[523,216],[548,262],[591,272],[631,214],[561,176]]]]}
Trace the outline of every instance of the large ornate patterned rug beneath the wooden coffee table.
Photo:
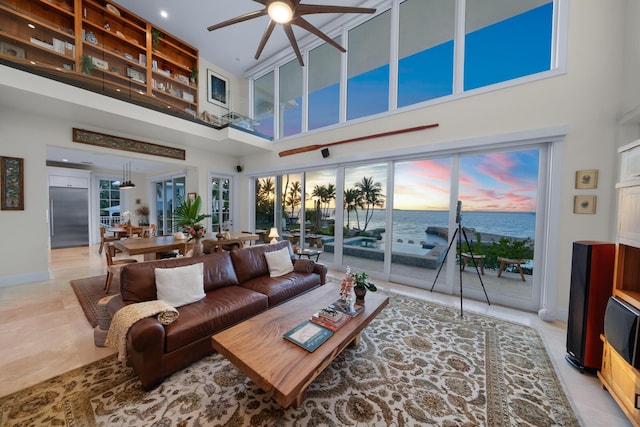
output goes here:
{"type": "Polygon", "coordinates": [[[398,295],[297,409],[218,354],[150,392],[111,356],[0,399],[0,416],[7,426],[579,425],[536,330],[398,295]]]}

